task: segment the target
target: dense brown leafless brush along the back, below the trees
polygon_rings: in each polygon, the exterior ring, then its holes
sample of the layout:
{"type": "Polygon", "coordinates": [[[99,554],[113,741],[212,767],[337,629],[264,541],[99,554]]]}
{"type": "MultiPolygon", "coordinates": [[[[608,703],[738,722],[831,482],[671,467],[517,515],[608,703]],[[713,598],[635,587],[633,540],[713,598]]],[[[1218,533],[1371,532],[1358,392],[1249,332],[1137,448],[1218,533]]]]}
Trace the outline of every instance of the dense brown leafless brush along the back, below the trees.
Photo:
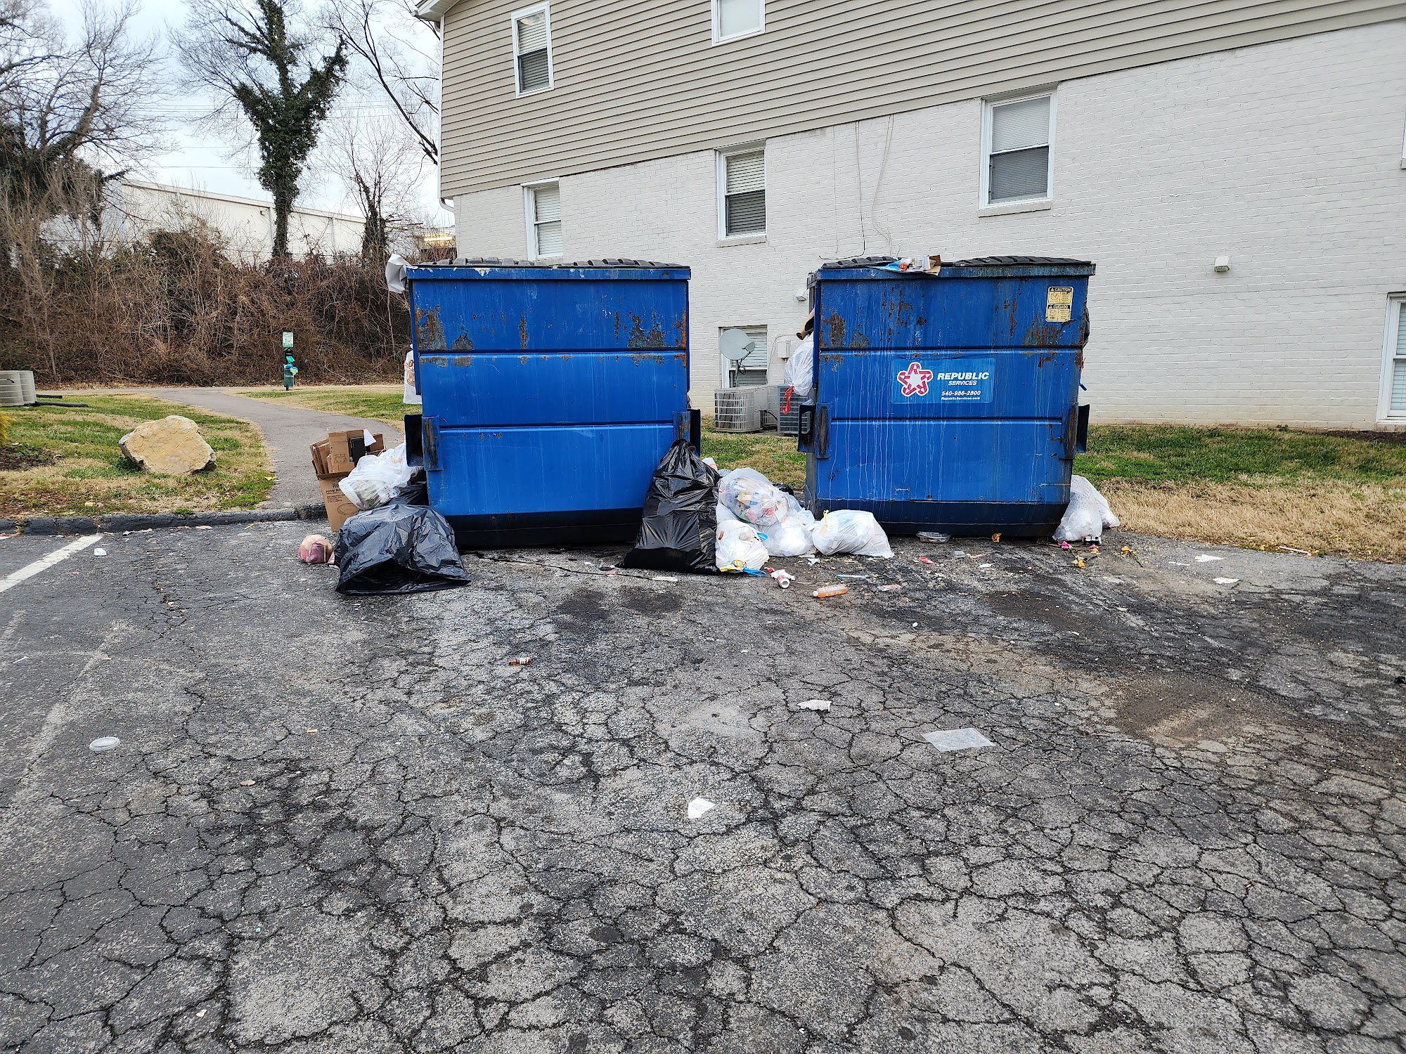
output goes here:
{"type": "Polygon", "coordinates": [[[3,370],[45,385],[278,384],[287,330],[302,382],[401,377],[409,316],[375,264],[240,261],[198,222],[117,247],[10,232],[3,370]]]}

